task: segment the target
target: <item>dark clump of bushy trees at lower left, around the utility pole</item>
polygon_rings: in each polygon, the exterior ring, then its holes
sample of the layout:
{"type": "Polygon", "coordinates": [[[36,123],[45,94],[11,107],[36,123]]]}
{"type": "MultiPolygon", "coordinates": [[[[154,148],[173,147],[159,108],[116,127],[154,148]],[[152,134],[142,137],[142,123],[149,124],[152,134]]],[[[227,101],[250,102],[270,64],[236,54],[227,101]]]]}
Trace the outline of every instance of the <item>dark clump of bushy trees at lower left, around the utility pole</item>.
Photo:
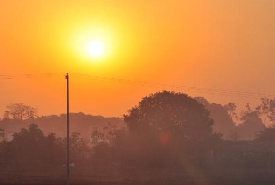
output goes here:
{"type": "MultiPolygon", "coordinates": [[[[79,133],[72,133],[70,137],[71,157],[78,161],[85,161],[90,157],[87,142],[80,138],[79,133]]],[[[22,128],[13,134],[11,142],[1,142],[0,160],[7,165],[63,165],[66,156],[66,138],[56,137],[54,133],[44,135],[36,124],[22,128]]]]}

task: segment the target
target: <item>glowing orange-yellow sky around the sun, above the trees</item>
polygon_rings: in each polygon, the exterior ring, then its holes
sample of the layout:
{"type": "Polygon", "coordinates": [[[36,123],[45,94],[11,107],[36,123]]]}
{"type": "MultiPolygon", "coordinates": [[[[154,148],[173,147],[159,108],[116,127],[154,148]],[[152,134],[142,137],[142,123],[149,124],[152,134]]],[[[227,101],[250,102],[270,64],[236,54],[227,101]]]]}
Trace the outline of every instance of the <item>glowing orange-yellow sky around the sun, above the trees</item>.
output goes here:
{"type": "MultiPolygon", "coordinates": [[[[84,73],[275,94],[275,1],[0,2],[0,75],[84,73]],[[83,54],[81,42],[90,38],[106,44],[104,57],[83,54]]],[[[0,87],[0,117],[8,103],[32,105],[40,115],[66,111],[63,77],[0,80],[0,87]]],[[[71,78],[71,111],[121,116],[162,89],[71,78]]]]}

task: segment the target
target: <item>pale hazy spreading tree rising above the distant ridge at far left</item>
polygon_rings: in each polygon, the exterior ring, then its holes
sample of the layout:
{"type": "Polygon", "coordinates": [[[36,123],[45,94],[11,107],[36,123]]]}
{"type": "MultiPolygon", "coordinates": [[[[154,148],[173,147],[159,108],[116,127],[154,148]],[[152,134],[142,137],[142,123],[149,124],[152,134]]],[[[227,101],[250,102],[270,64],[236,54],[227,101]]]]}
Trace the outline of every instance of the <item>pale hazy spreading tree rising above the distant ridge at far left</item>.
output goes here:
{"type": "Polygon", "coordinates": [[[24,120],[37,116],[37,109],[23,103],[10,103],[6,108],[4,118],[24,120]]]}

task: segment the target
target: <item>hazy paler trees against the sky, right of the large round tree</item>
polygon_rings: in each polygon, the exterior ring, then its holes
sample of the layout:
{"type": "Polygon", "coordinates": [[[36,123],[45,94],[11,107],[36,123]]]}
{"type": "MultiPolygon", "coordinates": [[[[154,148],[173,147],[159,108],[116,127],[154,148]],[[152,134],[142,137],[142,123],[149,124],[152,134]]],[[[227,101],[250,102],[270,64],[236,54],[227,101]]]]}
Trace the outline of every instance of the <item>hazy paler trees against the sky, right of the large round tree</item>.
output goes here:
{"type": "Polygon", "coordinates": [[[260,105],[254,109],[247,103],[240,113],[237,113],[235,103],[221,105],[209,103],[203,97],[194,99],[210,111],[214,120],[213,130],[222,133],[225,140],[253,140],[267,125],[275,123],[275,99],[262,98],[260,105]]]}

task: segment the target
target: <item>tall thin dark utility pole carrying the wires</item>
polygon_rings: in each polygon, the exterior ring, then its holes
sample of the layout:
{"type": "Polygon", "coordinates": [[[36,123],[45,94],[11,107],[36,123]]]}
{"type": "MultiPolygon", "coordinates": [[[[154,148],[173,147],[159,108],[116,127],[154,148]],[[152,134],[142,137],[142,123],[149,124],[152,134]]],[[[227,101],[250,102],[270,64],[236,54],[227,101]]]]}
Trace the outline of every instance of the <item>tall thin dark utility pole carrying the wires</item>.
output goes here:
{"type": "Polygon", "coordinates": [[[67,80],[67,185],[70,184],[70,131],[69,131],[69,74],[65,76],[67,80]]]}

